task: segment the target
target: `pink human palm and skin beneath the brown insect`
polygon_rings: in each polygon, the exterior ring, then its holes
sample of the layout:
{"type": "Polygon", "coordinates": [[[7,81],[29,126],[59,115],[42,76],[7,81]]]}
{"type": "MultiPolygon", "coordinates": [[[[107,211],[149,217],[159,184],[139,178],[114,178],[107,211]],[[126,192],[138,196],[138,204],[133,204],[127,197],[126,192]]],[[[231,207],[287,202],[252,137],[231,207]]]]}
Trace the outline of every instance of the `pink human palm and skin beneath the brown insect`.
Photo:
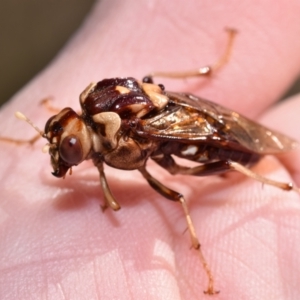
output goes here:
{"type": "MultiPolygon", "coordinates": [[[[232,57],[212,78],[156,82],[261,116],[300,140],[300,98],[268,108],[300,70],[299,14],[300,1],[100,1],[57,58],[2,108],[0,134],[32,137],[13,113],[43,128],[50,113],[39,102],[47,96],[56,107],[79,110],[78,95],[91,81],[213,63],[231,26],[239,30],[232,57]]],[[[138,172],[106,167],[122,209],[102,214],[96,169],[87,162],[56,179],[44,143],[0,147],[1,299],[209,299],[179,204],[138,172]]],[[[300,185],[299,157],[266,157],[253,170],[300,185]]],[[[154,163],[148,170],[185,195],[221,291],[215,299],[297,299],[298,194],[234,173],[172,177],[154,163]]]]}

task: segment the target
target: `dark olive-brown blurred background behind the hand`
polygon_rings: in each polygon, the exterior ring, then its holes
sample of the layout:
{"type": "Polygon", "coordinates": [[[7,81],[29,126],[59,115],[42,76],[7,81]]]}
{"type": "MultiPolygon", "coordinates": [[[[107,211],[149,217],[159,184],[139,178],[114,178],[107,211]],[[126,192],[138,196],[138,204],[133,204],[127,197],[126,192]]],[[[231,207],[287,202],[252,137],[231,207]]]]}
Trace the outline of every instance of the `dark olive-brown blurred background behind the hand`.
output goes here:
{"type": "MultiPolygon", "coordinates": [[[[95,2],[0,1],[0,105],[51,61],[80,27],[95,2]]],[[[300,80],[287,95],[298,92],[300,80]]]]}

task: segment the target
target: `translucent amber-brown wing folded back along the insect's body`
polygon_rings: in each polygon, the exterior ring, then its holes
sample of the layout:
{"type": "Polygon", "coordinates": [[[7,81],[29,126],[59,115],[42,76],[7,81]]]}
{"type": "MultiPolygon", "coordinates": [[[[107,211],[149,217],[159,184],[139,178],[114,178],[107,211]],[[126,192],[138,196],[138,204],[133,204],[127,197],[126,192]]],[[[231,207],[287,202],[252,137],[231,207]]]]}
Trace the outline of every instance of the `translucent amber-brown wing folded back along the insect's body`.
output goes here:
{"type": "Polygon", "coordinates": [[[177,141],[216,141],[236,144],[258,154],[293,150],[298,143],[230,109],[192,94],[167,92],[175,103],[147,120],[144,130],[153,136],[177,141]]]}

